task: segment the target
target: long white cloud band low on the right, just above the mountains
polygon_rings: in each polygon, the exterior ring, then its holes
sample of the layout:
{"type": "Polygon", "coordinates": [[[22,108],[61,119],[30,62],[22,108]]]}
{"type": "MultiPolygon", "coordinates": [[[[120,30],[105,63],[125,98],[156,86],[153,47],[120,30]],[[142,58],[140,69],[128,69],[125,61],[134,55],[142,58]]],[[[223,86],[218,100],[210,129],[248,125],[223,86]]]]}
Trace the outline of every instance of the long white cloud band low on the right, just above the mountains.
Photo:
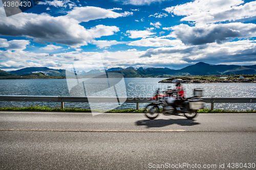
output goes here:
{"type": "Polygon", "coordinates": [[[248,62],[256,61],[256,43],[255,41],[241,40],[222,44],[215,42],[205,45],[150,48],[141,57],[152,57],[154,60],[171,57],[186,63],[199,61],[208,63],[248,62]]]}

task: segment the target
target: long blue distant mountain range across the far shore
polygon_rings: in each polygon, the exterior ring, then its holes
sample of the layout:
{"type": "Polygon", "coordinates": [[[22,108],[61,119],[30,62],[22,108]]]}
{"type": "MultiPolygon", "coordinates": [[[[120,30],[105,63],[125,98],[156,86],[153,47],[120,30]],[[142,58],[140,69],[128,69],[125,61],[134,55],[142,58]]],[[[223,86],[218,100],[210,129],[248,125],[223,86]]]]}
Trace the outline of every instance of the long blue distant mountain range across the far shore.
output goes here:
{"type": "MultiPolygon", "coordinates": [[[[83,77],[92,74],[98,74],[103,72],[100,69],[93,69],[88,72],[77,70],[77,76],[83,77]]],[[[230,75],[230,74],[256,74],[256,65],[213,65],[204,62],[199,62],[194,65],[189,65],[182,69],[169,69],[169,68],[135,68],[135,67],[114,67],[105,70],[106,72],[118,72],[123,77],[170,77],[170,76],[185,76],[185,75],[230,75]]],[[[18,69],[15,71],[4,71],[0,70],[1,77],[17,76],[17,75],[28,75],[35,74],[38,72],[44,73],[47,76],[74,76],[74,71],[65,69],[52,69],[48,67],[27,67],[18,69]],[[67,73],[67,75],[66,75],[67,73]]]]}

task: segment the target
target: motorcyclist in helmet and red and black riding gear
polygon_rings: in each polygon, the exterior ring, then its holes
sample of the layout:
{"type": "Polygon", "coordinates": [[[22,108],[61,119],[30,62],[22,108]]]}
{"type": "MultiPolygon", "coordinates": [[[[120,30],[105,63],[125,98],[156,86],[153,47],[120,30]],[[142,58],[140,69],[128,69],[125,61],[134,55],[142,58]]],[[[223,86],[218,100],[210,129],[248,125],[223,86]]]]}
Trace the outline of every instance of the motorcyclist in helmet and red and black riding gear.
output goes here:
{"type": "Polygon", "coordinates": [[[183,86],[181,85],[182,79],[174,79],[172,81],[173,83],[176,84],[176,88],[172,90],[173,93],[177,94],[177,98],[174,101],[174,112],[177,112],[178,105],[182,104],[185,101],[185,91],[183,86]]]}

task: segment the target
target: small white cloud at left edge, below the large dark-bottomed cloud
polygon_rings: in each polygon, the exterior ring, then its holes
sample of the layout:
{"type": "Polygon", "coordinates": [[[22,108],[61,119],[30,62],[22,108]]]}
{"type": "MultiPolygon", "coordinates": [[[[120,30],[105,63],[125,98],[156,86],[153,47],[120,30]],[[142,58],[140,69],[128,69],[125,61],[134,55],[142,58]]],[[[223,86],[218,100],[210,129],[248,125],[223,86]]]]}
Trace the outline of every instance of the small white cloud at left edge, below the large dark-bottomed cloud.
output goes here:
{"type": "Polygon", "coordinates": [[[0,47],[4,47],[6,50],[24,50],[26,46],[30,44],[29,40],[11,40],[0,38],[0,47]]]}

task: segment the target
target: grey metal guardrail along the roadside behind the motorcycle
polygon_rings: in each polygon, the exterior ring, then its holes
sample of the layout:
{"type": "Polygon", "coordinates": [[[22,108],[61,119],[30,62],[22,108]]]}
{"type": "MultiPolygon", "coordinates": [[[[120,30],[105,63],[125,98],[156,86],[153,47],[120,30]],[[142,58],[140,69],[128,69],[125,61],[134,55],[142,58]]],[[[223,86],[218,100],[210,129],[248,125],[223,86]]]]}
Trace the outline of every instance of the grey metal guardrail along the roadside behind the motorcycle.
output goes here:
{"type": "MultiPolygon", "coordinates": [[[[151,97],[127,97],[125,103],[136,103],[136,109],[139,109],[139,103],[152,103],[151,97]]],[[[61,108],[64,108],[64,102],[90,102],[95,103],[114,103],[116,97],[82,97],[82,96],[40,96],[40,95],[0,95],[0,101],[19,101],[19,102],[60,102],[61,108]]],[[[120,99],[125,99],[119,97],[120,99]]],[[[214,110],[214,103],[256,103],[256,98],[223,98],[223,97],[203,97],[205,103],[211,103],[211,110],[214,110]]]]}

